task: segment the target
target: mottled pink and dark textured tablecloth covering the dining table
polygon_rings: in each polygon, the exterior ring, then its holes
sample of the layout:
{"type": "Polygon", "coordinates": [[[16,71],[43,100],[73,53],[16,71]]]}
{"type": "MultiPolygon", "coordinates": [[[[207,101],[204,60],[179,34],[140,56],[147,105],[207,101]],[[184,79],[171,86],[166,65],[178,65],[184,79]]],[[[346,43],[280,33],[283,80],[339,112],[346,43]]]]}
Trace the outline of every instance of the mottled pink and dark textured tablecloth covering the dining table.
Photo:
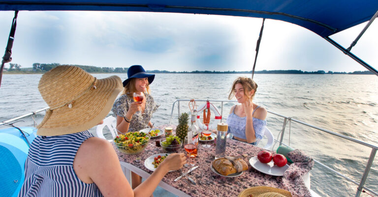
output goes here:
{"type": "MultiPolygon", "coordinates": [[[[168,125],[163,125],[158,128],[163,129],[167,126],[168,125]]],[[[169,125],[169,127],[172,127],[174,132],[176,131],[176,126],[169,125]]],[[[152,138],[146,149],[138,155],[126,155],[120,153],[118,149],[115,148],[119,160],[152,173],[151,170],[144,166],[144,161],[152,155],[163,153],[162,148],[157,147],[155,143],[155,141],[160,140],[160,138],[164,138],[164,135],[157,138],[152,138]],[[140,162],[135,162],[137,157],[141,158],[140,162]]],[[[284,189],[291,192],[293,197],[311,197],[310,192],[306,188],[302,179],[303,174],[311,170],[312,166],[314,165],[314,161],[309,156],[300,150],[290,152],[288,157],[294,163],[291,164],[285,171],[284,176],[271,176],[255,170],[249,164],[249,159],[257,156],[258,152],[261,150],[263,149],[251,144],[227,139],[226,155],[243,155],[242,157],[244,161],[246,161],[249,165],[248,170],[245,170],[242,175],[229,178],[220,176],[211,170],[211,164],[215,158],[215,145],[213,141],[200,141],[200,144],[198,145],[199,157],[192,159],[193,163],[199,167],[189,173],[189,177],[191,177],[197,184],[192,184],[186,177],[174,182],[173,180],[181,175],[180,170],[168,172],[162,181],[193,197],[236,197],[243,190],[253,186],[270,186],[284,189]],[[211,147],[204,148],[201,146],[203,143],[208,143],[211,145],[211,147]]],[[[182,148],[179,152],[186,153],[184,148],[182,148]]],[[[188,169],[189,168],[184,167],[183,171],[187,171],[188,169]]]]}

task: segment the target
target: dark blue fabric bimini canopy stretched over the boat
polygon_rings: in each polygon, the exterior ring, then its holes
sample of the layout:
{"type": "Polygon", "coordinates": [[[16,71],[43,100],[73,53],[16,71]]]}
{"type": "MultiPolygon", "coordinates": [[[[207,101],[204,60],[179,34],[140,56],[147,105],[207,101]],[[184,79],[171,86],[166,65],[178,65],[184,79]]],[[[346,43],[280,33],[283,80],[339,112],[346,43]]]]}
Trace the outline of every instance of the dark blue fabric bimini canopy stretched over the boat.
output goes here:
{"type": "Polygon", "coordinates": [[[214,14],[282,20],[327,37],[370,20],[378,0],[0,0],[0,10],[214,14]]]}

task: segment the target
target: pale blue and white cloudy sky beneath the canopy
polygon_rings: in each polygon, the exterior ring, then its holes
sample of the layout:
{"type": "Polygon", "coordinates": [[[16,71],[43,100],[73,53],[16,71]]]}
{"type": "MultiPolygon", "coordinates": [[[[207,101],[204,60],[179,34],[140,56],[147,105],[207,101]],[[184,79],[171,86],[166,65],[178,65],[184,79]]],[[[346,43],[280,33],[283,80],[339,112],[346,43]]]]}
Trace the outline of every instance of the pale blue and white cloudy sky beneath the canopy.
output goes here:
{"type": "MultiPolygon", "coordinates": [[[[13,15],[0,12],[1,57],[13,15]]],[[[256,18],[199,14],[20,11],[12,63],[246,71],[252,70],[261,23],[256,18]]],[[[331,38],[347,48],[365,25],[331,38]]],[[[375,21],[352,49],[376,69],[377,33],[375,21]]],[[[265,21],[256,64],[256,70],[263,69],[366,70],[315,33],[275,20],[265,21]]]]}

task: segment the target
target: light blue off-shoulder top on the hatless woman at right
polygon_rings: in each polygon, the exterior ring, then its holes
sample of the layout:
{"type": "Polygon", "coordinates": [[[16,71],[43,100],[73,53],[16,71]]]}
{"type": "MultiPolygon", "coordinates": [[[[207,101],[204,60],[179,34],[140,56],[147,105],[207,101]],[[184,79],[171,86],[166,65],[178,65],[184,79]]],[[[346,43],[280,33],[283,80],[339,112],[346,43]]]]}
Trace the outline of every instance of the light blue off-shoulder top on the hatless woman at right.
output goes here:
{"type": "MultiPolygon", "coordinates": [[[[256,111],[260,106],[257,106],[253,112],[256,111]]],[[[227,124],[228,124],[228,132],[232,133],[235,137],[239,137],[242,139],[247,139],[246,137],[246,124],[247,124],[247,116],[245,117],[239,117],[237,116],[234,111],[235,111],[236,106],[232,110],[232,113],[230,113],[227,117],[227,124]]],[[[265,127],[266,127],[266,121],[261,120],[258,118],[253,118],[253,129],[254,129],[254,134],[256,138],[262,139],[264,136],[265,132],[265,127]]]]}

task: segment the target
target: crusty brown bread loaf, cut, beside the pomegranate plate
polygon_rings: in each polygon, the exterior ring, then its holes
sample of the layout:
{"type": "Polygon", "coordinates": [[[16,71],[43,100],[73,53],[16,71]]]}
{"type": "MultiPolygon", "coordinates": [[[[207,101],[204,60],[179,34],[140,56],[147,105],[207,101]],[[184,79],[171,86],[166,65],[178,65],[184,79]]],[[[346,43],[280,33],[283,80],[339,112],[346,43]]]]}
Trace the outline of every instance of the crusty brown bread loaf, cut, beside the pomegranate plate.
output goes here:
{"type": "Polygon", "coordinates": [[[248,169],[248,164],[243,159],[235,157],[219,158],[213,162],[213,168],[221,175],[227,176],[248,169]]]}

